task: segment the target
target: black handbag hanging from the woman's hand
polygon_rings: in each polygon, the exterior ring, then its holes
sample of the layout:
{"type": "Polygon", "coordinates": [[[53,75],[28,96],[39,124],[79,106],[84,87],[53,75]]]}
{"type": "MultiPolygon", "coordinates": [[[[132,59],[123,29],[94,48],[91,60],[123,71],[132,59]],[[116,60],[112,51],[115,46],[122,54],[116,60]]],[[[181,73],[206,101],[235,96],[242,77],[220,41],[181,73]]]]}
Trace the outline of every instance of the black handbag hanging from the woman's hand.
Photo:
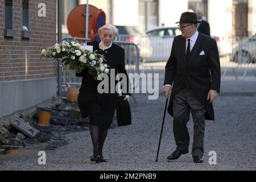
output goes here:
{"type": "Polygon", "coordinates": [[[123,101],[125,96],[118,97],[117,102],[117,126],[131,125],[131,109],[128,100],[123,101]]]}

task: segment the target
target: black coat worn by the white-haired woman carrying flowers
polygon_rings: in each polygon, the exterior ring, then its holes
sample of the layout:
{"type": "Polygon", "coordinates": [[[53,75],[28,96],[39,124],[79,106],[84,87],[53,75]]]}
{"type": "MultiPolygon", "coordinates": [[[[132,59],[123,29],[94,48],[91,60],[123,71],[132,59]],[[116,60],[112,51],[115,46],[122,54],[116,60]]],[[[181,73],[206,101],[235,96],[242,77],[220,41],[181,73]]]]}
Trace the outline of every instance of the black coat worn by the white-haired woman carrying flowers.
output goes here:
{"type": "MultiPolygon", "coordinates": [[[[102,51],[98,42],[88,42],[88,46],[93,46],[93,51],[98,50],[106,59],[106,64],[109,69],[115,69],[115,76],[117,73],[124,73],[127,76],[125,69],[125,51],[117,44],[112,44],[112,47],[102,51]]],[[[82,77],[81,88],[79,89],[79,107],[82,118],[87,117],[89,114],[101,114],[101,118],[107,121],[110,125],[113,119],[114,111],[118,102],[118,93],[98,93],[97,86],[101,81],[94,80],[88,75],[88,70],[84,69],[77,76],[82,77]]],[[[110,76],[109,76],[110,78],[110,76]]],[[[115,85],[117,81],[115,81],[115,85]]],[[[129,79],[127,79],[127,85],[129,79]]],[[[123,93],[123,95],[130,95],[130,93],[123,93]]]]}

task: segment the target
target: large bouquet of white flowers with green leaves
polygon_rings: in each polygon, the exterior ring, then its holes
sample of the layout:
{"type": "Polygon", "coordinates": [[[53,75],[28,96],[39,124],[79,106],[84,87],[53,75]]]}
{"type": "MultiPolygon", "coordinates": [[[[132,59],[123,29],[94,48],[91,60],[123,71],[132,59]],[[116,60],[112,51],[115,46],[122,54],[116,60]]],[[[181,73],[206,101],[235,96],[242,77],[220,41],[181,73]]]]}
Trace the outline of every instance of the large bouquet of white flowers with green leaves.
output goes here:
{"type": "Polygon", "coordinates": [[[60,61],[63,67],[69,66],[69,69],[76,69],[79,73],[82,69],[87,68],[88,74],[92,75],[95,80],[101,73],[109,73],[108,65],[104,55],[97,51],[90,51],[85,48],[85,44],[77,42],[65,42],[55,44],[54,46],[43,49],[41,57],[53,58],[60,61]],[[105,62],[105,63],[104,63],[105,62]]]}

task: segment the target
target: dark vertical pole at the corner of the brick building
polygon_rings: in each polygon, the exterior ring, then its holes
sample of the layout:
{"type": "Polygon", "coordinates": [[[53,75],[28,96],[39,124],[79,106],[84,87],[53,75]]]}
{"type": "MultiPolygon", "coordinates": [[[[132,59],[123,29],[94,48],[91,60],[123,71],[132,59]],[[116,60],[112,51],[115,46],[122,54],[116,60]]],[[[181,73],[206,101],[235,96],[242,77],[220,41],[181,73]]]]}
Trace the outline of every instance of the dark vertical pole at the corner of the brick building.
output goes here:
{"type": "MultiPolygon", "coordinates": [[[[62,0],[58,0],[58,43],[61,43],[62,40],[62,0]]],[[[61,80],[61,63],[58,61],[58,96],[62,96],[62,80],[61,80]]]]}

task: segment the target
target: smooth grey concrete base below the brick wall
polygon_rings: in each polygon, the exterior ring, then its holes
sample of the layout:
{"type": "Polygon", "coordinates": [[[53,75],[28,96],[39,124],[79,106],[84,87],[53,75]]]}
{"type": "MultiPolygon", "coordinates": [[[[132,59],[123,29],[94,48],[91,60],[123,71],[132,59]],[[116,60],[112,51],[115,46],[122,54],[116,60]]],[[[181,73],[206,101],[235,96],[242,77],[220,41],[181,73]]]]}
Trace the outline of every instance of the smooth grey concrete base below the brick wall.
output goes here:
{"type": "Polygon", "coordinates": [[[56,78],[0,82],[0,118],[56,95],[56,78]]]}

